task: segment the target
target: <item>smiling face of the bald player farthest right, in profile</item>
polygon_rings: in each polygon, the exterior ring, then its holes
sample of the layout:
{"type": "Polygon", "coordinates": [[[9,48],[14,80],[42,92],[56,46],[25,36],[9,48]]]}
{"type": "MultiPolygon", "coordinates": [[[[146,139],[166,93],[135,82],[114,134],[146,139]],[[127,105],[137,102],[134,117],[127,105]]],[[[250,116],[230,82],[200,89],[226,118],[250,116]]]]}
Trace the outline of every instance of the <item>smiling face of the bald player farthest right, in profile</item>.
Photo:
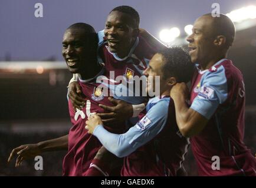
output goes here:
{"type": "Polygon", "coordinates": [[[187,38],[192,63],[205,64],[215,56],[212,22],[209,16],[202,16],[193,25],[193,33],[187,38]]]}

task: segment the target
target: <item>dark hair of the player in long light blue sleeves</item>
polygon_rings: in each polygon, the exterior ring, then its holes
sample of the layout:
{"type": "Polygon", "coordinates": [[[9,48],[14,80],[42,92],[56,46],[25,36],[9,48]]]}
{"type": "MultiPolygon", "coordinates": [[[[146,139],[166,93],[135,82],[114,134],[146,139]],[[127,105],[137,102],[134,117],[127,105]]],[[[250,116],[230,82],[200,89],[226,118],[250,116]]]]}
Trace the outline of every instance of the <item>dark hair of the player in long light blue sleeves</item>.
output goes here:
{"type": "Polygon", "coordinates": [[[177,82],[186,83],[191,80],[195,66],[191,62],[188,52],[185,52],[181,47],[172,46],[157,53],[162,55],[164,79],[173,76],[177,82]]]}

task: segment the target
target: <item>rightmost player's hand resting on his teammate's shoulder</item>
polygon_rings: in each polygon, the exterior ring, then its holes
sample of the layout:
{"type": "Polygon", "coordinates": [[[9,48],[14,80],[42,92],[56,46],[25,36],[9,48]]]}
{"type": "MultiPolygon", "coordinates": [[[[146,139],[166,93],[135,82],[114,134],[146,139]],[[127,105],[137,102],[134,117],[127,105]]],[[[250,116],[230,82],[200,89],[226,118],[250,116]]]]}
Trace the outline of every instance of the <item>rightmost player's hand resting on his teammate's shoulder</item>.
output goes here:
{"type": "Polygon", "coordinates": [[[170,97],[175,99],[176,97],[183,96],[185,99],[188,99],[189,89],[186,83],[176,83],[172,89],[170,89],[170,97]]]}

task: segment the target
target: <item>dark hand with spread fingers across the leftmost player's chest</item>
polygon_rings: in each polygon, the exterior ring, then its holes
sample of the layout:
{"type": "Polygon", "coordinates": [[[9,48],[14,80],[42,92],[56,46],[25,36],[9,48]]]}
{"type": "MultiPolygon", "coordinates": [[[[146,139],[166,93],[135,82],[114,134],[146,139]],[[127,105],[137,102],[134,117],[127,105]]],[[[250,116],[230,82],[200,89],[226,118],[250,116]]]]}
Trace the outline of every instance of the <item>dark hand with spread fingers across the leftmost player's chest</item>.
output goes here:
{"type": "Polygon", "coordinates": [[[109,125],[110,123],[123,122],[133,116],[133,106],[123,100],[110,98],[109,100],[114,106],[99,105],[106,110],[107,113],[97,113],[101,117],[103,123],[109,125]]]}

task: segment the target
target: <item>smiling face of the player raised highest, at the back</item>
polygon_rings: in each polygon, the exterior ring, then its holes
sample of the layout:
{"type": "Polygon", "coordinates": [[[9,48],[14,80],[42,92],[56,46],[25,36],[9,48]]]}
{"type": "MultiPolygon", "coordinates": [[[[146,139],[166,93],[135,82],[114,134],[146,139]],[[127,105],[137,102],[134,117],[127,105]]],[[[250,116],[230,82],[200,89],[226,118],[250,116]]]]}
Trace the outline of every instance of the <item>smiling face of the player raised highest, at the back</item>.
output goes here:
{"type": "Polygon", "coordinates": [[[117,53],[120,58],[129,54],[139,33],[133,22],[131,16],[119,11],[113,11],[107,16],[104,34],[110,52],[117,53]]]}

